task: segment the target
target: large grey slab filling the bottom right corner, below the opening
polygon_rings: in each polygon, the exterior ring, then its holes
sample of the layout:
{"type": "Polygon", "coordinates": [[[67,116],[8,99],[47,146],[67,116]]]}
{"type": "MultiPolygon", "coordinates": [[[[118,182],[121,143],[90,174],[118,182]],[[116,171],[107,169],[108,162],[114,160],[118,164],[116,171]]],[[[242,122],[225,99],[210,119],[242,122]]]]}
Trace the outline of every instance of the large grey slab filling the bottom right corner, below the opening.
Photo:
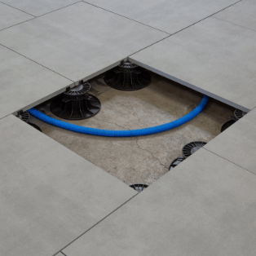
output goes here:
{"type": "Polygon", "coordinates": [[[202,148],[64,254],[254,256],[255,211],[255,174],[202,148]]]}

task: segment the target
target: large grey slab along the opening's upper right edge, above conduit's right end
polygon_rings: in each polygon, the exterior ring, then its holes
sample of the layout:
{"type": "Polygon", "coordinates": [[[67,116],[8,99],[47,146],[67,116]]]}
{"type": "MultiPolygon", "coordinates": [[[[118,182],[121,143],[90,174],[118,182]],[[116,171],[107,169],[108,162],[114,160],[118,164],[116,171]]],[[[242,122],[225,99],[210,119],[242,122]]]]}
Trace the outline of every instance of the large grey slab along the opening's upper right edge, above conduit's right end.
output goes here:
{"type": "Polygon", "coordinates": [[[205,19],[139,51],[131,61],[235,108],[256,106],[256,33],[205,19]]]}

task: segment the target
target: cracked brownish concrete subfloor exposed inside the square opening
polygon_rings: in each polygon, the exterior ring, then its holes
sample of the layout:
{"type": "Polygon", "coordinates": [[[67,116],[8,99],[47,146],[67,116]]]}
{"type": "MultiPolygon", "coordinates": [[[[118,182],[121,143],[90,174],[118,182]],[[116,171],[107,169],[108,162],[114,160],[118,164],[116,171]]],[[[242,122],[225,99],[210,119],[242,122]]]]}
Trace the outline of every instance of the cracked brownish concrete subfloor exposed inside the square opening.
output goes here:
{"type": "MultiPolygon", "coordinates": [[[[92,79],[90,93],[99,98],[100,112],[86,120],[68,122],[109,130],[142,129],[183,117],[196,108],[203,97],[164,77],[153,73],[151,76],[149,86],[135,91],[115,90],[104,84],[101,78],[104,76],[92,79]]],[[[50,103],[38,106],[38,110],[63,120],[51,113],[50,103]]],[[[233,108],[212,100],[199,116],[177,129],[134,138],[82,135],[33,117],[30,121],[41,127],[43,133],[117,179],[127,184],[151,184],[169,171],[171,161],[182,155],[186,143],[214,139],[232,114],[233,108]]]]}

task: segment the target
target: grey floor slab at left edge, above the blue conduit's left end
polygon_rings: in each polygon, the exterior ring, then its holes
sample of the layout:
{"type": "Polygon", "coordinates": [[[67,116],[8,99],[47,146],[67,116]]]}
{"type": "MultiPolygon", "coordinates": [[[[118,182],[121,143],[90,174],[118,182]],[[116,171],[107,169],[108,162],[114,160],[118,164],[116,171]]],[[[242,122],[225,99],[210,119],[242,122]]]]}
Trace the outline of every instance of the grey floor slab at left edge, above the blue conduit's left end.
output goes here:
{"type": "Polygon", "coordinates": [[[73,82],[0,46],[0,118],[60,94],[73,82]]]}

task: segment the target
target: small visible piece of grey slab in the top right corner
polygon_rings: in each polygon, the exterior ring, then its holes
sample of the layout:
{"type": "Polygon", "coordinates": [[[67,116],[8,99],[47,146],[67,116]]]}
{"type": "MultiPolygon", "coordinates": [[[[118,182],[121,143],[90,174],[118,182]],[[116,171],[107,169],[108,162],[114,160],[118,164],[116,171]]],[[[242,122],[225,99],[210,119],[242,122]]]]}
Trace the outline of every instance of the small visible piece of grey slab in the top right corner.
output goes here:
{"type": "Polygon", "coordinates": [[[256,2],[254,0],[243,0],[223,11],[218,12],[214,17],[256,30],[256,2]]]}

